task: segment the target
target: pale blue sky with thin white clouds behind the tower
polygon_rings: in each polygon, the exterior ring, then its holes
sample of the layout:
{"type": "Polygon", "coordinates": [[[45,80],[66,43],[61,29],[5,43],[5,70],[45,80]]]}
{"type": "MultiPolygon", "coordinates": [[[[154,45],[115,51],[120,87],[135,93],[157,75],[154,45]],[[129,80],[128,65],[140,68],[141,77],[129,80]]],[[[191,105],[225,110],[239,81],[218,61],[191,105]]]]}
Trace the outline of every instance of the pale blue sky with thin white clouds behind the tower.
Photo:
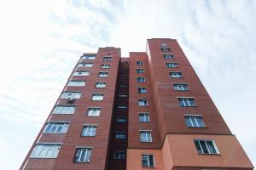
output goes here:
{"type": "Polygon", "coordinates": [[[176,38],[256,165],[256,1],[0,3],[0,165],[18,169],[83,52],[176,38]]]}

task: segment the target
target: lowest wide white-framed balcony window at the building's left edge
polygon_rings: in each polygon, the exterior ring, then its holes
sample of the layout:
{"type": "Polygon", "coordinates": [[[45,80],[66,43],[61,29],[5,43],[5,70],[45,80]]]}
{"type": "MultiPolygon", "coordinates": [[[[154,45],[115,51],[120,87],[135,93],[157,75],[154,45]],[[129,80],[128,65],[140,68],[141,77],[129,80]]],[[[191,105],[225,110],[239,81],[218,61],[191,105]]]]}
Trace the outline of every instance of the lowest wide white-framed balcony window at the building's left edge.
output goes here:
{"type": "Polygon", "coordinates": [[[37,144],[31,157],[56,158],[61,150],[61,144],[37,144]]]}

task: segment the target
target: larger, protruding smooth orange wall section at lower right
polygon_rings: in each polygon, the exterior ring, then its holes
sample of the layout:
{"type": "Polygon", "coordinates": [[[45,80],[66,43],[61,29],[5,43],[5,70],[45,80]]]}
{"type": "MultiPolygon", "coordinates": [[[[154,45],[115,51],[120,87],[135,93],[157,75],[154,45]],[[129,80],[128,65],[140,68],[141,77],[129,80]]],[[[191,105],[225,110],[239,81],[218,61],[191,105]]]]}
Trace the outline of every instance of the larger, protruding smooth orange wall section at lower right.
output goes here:
{"type": "Polygon", "coordinates": [[[253,169],[245,151],[233,135],[203,135],[203,134],[167,134],[163,146],[164,164],[181,167],[248,167],[253,169]],[[195,149],[194,139],[213,139],[218,147],[219,155],[199,155],[195,149]],[[172,159],[166,160],[166,157],[172,159]],[[165,157],[166,156],[166,157],[165,157]]]}

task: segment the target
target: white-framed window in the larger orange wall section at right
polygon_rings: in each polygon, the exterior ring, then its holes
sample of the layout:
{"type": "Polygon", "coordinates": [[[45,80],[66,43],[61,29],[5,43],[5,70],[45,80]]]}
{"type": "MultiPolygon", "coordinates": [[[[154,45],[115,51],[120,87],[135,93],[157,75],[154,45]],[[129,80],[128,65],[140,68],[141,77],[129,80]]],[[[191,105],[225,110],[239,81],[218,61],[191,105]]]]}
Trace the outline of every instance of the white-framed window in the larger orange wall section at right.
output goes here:
{"type": "Polygon", "coordinates": [[[217,146],[213,140],[195,139],[194,142],[198,154],[219,154],[217,146]]]}

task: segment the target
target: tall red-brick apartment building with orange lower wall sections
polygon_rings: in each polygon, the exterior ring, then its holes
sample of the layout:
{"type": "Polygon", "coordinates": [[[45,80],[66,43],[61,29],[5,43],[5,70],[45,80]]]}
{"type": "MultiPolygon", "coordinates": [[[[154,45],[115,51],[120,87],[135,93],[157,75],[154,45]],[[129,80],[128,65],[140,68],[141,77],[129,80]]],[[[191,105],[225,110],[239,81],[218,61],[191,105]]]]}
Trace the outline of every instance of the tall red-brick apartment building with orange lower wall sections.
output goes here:
{"type": "Polygon", "coordinates": [[[83,54],[20,169],[253,169],[174,39],[83,54]]]}

